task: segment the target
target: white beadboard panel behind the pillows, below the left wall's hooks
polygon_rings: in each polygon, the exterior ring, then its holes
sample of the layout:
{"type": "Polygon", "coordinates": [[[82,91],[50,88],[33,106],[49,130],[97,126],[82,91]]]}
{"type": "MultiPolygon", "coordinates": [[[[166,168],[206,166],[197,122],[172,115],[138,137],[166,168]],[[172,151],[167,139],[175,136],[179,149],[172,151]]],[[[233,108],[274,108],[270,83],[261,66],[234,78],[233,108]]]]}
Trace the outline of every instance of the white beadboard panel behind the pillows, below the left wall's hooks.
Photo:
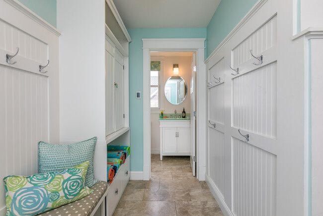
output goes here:
{"type": "Polygon", "coordinates": [[[38,172],[37,143],[48,141],[48,77],[0,65],[1,178],[38,172]]]}

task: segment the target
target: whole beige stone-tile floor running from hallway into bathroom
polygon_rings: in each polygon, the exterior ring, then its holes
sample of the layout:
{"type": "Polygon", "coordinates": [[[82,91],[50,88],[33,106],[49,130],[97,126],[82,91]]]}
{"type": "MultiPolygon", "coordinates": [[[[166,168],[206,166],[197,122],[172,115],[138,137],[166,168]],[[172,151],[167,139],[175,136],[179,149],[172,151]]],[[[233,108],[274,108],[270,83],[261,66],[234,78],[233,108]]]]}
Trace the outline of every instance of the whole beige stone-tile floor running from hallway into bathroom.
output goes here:
{"type": "Polygon", "coordinates": [[[224,216],[188,156],[152,154],[151,180],[130,180],[114,216],[224,216]]]}

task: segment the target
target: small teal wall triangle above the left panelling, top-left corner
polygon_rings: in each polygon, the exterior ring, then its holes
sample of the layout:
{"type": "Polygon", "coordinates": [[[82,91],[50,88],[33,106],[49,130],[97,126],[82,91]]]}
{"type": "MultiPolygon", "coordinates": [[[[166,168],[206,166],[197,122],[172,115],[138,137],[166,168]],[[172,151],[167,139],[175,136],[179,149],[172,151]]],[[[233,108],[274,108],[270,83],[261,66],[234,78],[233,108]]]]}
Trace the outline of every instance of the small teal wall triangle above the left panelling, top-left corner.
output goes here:
{"type": "Polygon", "coordinates": [[[19,1],[56,28],[56,0],[19,1]]]}

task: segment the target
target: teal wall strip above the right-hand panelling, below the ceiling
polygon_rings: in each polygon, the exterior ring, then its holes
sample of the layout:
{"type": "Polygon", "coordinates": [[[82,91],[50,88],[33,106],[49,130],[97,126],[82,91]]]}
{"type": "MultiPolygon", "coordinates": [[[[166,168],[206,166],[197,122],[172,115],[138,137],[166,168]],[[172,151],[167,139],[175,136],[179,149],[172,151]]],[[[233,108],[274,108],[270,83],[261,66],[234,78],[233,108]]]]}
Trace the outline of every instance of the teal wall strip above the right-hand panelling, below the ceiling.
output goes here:
{"type": "Polygon", "coordinates": [[[207,26],[207,57],[240,22],[257,0],[222,0],[207,26]]]}

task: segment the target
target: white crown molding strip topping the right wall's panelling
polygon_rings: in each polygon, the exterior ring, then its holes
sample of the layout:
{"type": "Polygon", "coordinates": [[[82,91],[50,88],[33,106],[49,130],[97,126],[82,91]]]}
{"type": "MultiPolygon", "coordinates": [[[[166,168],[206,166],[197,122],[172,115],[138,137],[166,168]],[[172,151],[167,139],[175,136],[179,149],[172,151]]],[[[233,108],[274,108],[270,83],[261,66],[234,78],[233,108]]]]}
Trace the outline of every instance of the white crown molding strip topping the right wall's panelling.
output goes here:
{"type": "Polygon", "coordinates": [[[240,22],[232,29],[232,31],[223,39],[218,47],[210,54],[210,56],[204,61],[207,64],[210,59],[242,28],[242,26],[267,2],[267,0],[258,0],[253,7],[245,14],[240,22]]]}

